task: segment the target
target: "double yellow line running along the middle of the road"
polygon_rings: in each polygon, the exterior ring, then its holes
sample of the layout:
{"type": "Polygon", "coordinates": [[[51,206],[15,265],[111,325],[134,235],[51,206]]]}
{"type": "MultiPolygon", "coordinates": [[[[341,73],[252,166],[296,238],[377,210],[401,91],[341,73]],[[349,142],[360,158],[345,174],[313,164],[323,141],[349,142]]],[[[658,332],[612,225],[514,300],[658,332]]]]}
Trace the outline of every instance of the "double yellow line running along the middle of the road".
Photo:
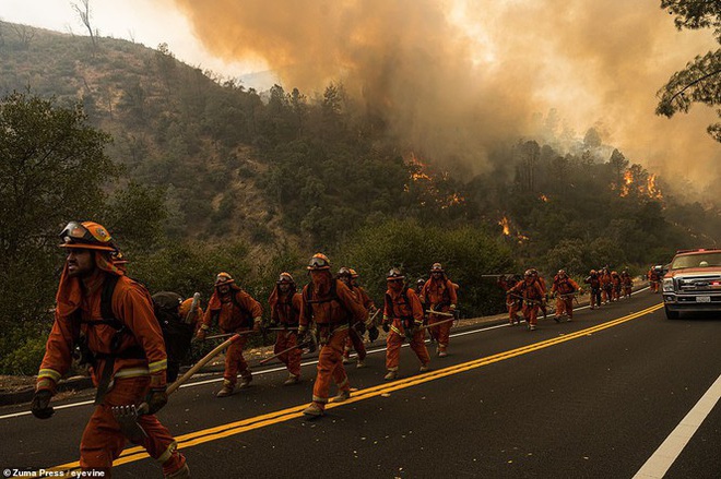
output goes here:
{"type": "MultiPolygon", "coordinates": [[[[628,314],[626,316],[610,321],[607,323],[599,324],[598,326],[588,327],[586,330],[581,330],[576,333],[570,333],[555,337],[553,339],[547,339],[528,346],[522,346],[520,348],[499,352],[493,356],[487,356],[485,358],[476,359],[473,361],[463,362],[461,364],[450,366],[448,368],[430,371],[425,374],[418,374],[404,380],[394,381],[392,383],[381,384],[378,386],[359,390],[354,392],[353,396],[350,399],[345,400],[344,403],[329,404],[328,409],[369,399],[371,397],[388,394],[393,391],[417,386],[418,384],[439,380],[441,378],[446,378],[452,374],[459,374],[465,371],[470,371],[472,369],[493,364],[494,362],[499,362],[506,359],[516,358],[518,356],[537,351],[539,349],[544,349],[572,339],[578,339],[580,337],[589,336],[600,331],[607,330],[608,327],[614,327],[627,321],[631,321],[637,318],[643,316],[646,314],[650,314],[654,311],[658,311],[661,308],[663,308],[663,304],[655,304],[642,311],[628,314]]],[[[303,404],[300,406],[294,406],[287,409],[269,412],[267,415],[256,416],[252,418],[244,419],[241,421],[229,422],[227,424],[217,426],[215,428],[203,429],[201,431],[196,431],[189,434],[180,435],[176,438],[176,441],[178,442],[178,446],[180,448],[185,448],[185,447],[192,447],[198,444],[203,444],[210,441],[216,441],[218,439],[227,438],[229,435],[241,434],[244,432],[252,431],[255,429],[260,429],[267,426],[276,424],[279,422],[284,422],[291,419],[300,418],[303,416],[303,409],[305,409],[306,406],[307,406],[306,404],[303,404]]],[[[122,452],[120,457],[115,460],[114,466],[132,463],[135,460],[144,459],[146,457],[149,457],[147,453],[141,446],[127,448],[122,452]]],[[[68,463],[60,466],[56,466],[48,470],[69,470],[69,469],[76,469],[79,467],[80,467],[80,463],[75,462],[75,463],[68,463]]]]}

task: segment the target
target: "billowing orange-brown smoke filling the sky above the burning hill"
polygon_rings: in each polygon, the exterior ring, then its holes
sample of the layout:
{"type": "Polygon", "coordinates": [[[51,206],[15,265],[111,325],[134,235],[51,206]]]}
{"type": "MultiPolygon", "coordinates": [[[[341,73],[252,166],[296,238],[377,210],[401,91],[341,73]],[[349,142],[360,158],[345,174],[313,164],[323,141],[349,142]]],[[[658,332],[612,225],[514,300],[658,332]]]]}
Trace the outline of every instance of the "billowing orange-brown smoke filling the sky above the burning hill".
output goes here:
{"type": "Polygon", "coordinates": [[[711,109],[654,116],[669,76],[718,48],[709,31],[677,32],[658,0],[175,1],[214,53],[264,59],[310,96],[342,83],[436,161],[482,171],[494,145],[537,137],[534,116],[556,109],[559,130],[594,127],[666,180],[720,173],[711,109]]]}

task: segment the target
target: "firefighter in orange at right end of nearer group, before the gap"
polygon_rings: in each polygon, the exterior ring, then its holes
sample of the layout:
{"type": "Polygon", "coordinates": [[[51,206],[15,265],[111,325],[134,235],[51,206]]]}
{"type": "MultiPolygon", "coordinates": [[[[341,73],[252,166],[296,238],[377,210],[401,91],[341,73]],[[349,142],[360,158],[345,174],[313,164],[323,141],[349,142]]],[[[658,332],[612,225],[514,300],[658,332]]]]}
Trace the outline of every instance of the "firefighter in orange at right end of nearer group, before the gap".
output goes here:
{"type": "MultiPolygon", "coordinates": [[[[458,302],[456,287],[446,276],[446,272],[440,263],[434,263],[430,267],[430,277],[423,285],[419,299],[422,303],[428,307],[428,324],[432,326],[435,323],[448,320],[448,316],[434,314],[433,311],[444,313],[453,313],[456,311],[456,303],[458,302]]],[[[430,334],[438,342],[438,357],[440,358],[448,356],[448,342],[452,324],[449,321],[430,328],[430,334]]]]}

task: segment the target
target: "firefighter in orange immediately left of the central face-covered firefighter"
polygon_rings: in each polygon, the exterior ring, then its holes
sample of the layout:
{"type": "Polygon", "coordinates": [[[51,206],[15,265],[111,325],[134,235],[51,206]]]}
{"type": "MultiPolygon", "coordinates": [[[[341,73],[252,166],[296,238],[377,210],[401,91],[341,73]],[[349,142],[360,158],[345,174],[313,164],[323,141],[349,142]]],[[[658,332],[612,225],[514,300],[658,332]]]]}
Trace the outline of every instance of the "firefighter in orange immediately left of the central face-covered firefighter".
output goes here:
{"type": "MultiPolygon", "coordinates": [[[[298,334],[295,328],[298,327],[300,318],[300,294],[296,291],[295,280],[291,273],[281,273],[268,302],[271,310],[270,325],[282,327],[275,334],[275,346],[273,347],[273,354],[277,355],[298,344],[298,334]]],[[[302,354],[300,349],[295,348],[277,357],[289,372],[284,385],[297,384],[300,381],[302,354]]]]}

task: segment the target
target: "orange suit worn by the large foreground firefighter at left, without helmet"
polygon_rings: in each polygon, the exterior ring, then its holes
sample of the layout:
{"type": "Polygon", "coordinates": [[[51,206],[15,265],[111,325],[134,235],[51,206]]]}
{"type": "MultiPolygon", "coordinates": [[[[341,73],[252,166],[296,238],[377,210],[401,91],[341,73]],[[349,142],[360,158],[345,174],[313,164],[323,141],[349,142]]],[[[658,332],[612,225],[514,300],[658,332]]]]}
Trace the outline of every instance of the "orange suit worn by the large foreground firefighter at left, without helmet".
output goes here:
{"type": "MultiPolygon", "coordinates": [[[[113,460],[120,456],[128,441],[111,408],[138,406],[151,386],[163,387],[167,362],[163,333],[147,290],[125,276],[102,253],[94,254],[97,268],[84,283],[69,277],[67,265],[62,272],[55,324],[36,388],[55,392],[57,382],[70,369],[73,345],[79,340],[87,345],[95,358],[91,372],[98,394],[80,443],[80,466],[84,470],[105,471],[105,477],[110,477],[113,460]],[[115,280],[115,288],[110,289],[108,285],[115,280]],[[102,312],[104,292],[111,298],[111,311],[106,310],[106,314],[102,312]],[[108,314],[118,323],[104,321],[111,320],[106,318],[108,314]]],[[[138,422],[147,434],[139,444],[163,465],[164,474],[184,467],[185,457],[154,415],[140,416],[138,422]]]]}

